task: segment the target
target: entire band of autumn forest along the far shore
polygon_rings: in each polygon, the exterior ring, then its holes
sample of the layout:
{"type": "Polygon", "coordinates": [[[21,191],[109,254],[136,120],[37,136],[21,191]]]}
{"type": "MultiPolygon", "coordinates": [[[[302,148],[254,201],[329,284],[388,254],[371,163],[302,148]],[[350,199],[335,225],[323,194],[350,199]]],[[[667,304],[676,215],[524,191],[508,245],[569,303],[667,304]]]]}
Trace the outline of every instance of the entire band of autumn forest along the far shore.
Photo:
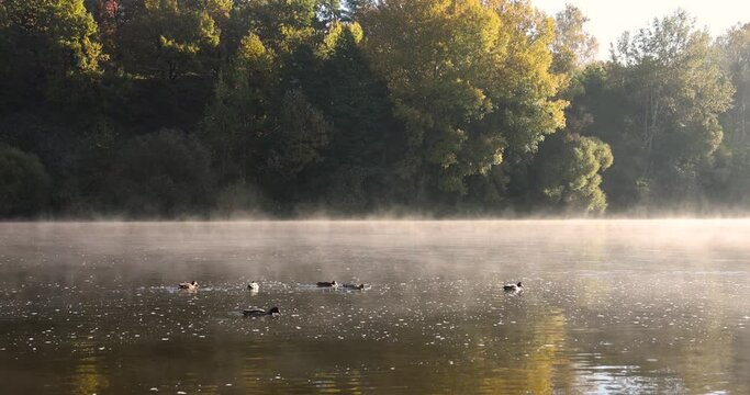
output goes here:
{"type": "Polygon", "coordinates": [[[0,218],[747,213],[750,23],[584,12],[0,0],[0,218]]]}

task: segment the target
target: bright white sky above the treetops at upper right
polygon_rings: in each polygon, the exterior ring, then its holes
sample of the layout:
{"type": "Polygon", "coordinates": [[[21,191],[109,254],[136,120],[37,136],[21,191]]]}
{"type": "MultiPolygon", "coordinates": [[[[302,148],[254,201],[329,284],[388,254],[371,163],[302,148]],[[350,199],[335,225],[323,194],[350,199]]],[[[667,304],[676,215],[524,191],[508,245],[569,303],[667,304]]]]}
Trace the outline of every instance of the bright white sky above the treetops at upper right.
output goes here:
{"type": "Polygon", "coordinates": [[[586,30],[598,41],[600,59],[608,58],[609,43],[616,42],[623,32],[637,31],[654,18],[671,14],[679,8],[690,12],[696,19],[697,26],[708,27],[714,37],[738,23],[750,22],[750,2],[732,0],[535,0],[531,3],[550,15],[562,10],[567,3],[581,9],[591,20],[586,30]]]}

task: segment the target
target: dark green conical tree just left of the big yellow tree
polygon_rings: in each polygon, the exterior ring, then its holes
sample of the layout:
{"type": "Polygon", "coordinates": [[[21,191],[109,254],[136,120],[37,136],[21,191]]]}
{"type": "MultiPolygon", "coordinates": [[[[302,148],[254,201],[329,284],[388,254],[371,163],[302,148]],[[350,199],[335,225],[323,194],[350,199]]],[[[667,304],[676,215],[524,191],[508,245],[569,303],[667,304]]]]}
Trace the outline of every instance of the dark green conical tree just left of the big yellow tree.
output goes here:
{"type": "Polygon", "coordinates": [[[362,50],[358,23],[331,26],[318,49],[315,79],[305,94],[332,124],[325,160],[307,188],[325,196],[336,211],[362,213],[382,201],[402,201],[392,183],[388,147],[393,146],[399,123],[392,114],[384,81],[378,78],[362,50]],[[391,184],[391,188],[383,188],[391,184]]]}

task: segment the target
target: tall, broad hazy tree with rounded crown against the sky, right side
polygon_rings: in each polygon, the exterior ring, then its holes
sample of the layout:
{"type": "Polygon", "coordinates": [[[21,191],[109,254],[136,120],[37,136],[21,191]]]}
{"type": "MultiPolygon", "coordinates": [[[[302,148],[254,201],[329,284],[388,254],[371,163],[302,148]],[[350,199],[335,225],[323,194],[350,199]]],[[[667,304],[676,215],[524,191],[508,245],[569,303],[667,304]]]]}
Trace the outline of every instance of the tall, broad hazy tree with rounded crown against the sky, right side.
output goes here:
{"type": "Polygon", "coordinates": [[[627,185],[623,194],[653,203],[698,199],[699,169],[721,143],[718,119],[732,94],[708,34],[684,11],[654,20],[623,35],[607,74],[607,89],[624,106],[618,127],[600,133],[622,134],[601,137],[613,144],[612,173],[627,185]]]}

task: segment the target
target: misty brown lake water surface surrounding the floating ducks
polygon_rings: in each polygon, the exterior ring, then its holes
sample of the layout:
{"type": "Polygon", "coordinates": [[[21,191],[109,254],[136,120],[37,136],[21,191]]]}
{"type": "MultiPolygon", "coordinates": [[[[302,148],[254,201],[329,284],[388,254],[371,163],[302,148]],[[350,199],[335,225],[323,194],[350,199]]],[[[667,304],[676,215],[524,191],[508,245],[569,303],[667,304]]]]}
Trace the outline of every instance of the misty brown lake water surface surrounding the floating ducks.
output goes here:
{"type": "Polygon", "coordinates": [[[3,224],[0,382],[747,394],[749,239],[750,221],[3,224]],[[312,285],[331,280],[372,286],[312,285]]]}

